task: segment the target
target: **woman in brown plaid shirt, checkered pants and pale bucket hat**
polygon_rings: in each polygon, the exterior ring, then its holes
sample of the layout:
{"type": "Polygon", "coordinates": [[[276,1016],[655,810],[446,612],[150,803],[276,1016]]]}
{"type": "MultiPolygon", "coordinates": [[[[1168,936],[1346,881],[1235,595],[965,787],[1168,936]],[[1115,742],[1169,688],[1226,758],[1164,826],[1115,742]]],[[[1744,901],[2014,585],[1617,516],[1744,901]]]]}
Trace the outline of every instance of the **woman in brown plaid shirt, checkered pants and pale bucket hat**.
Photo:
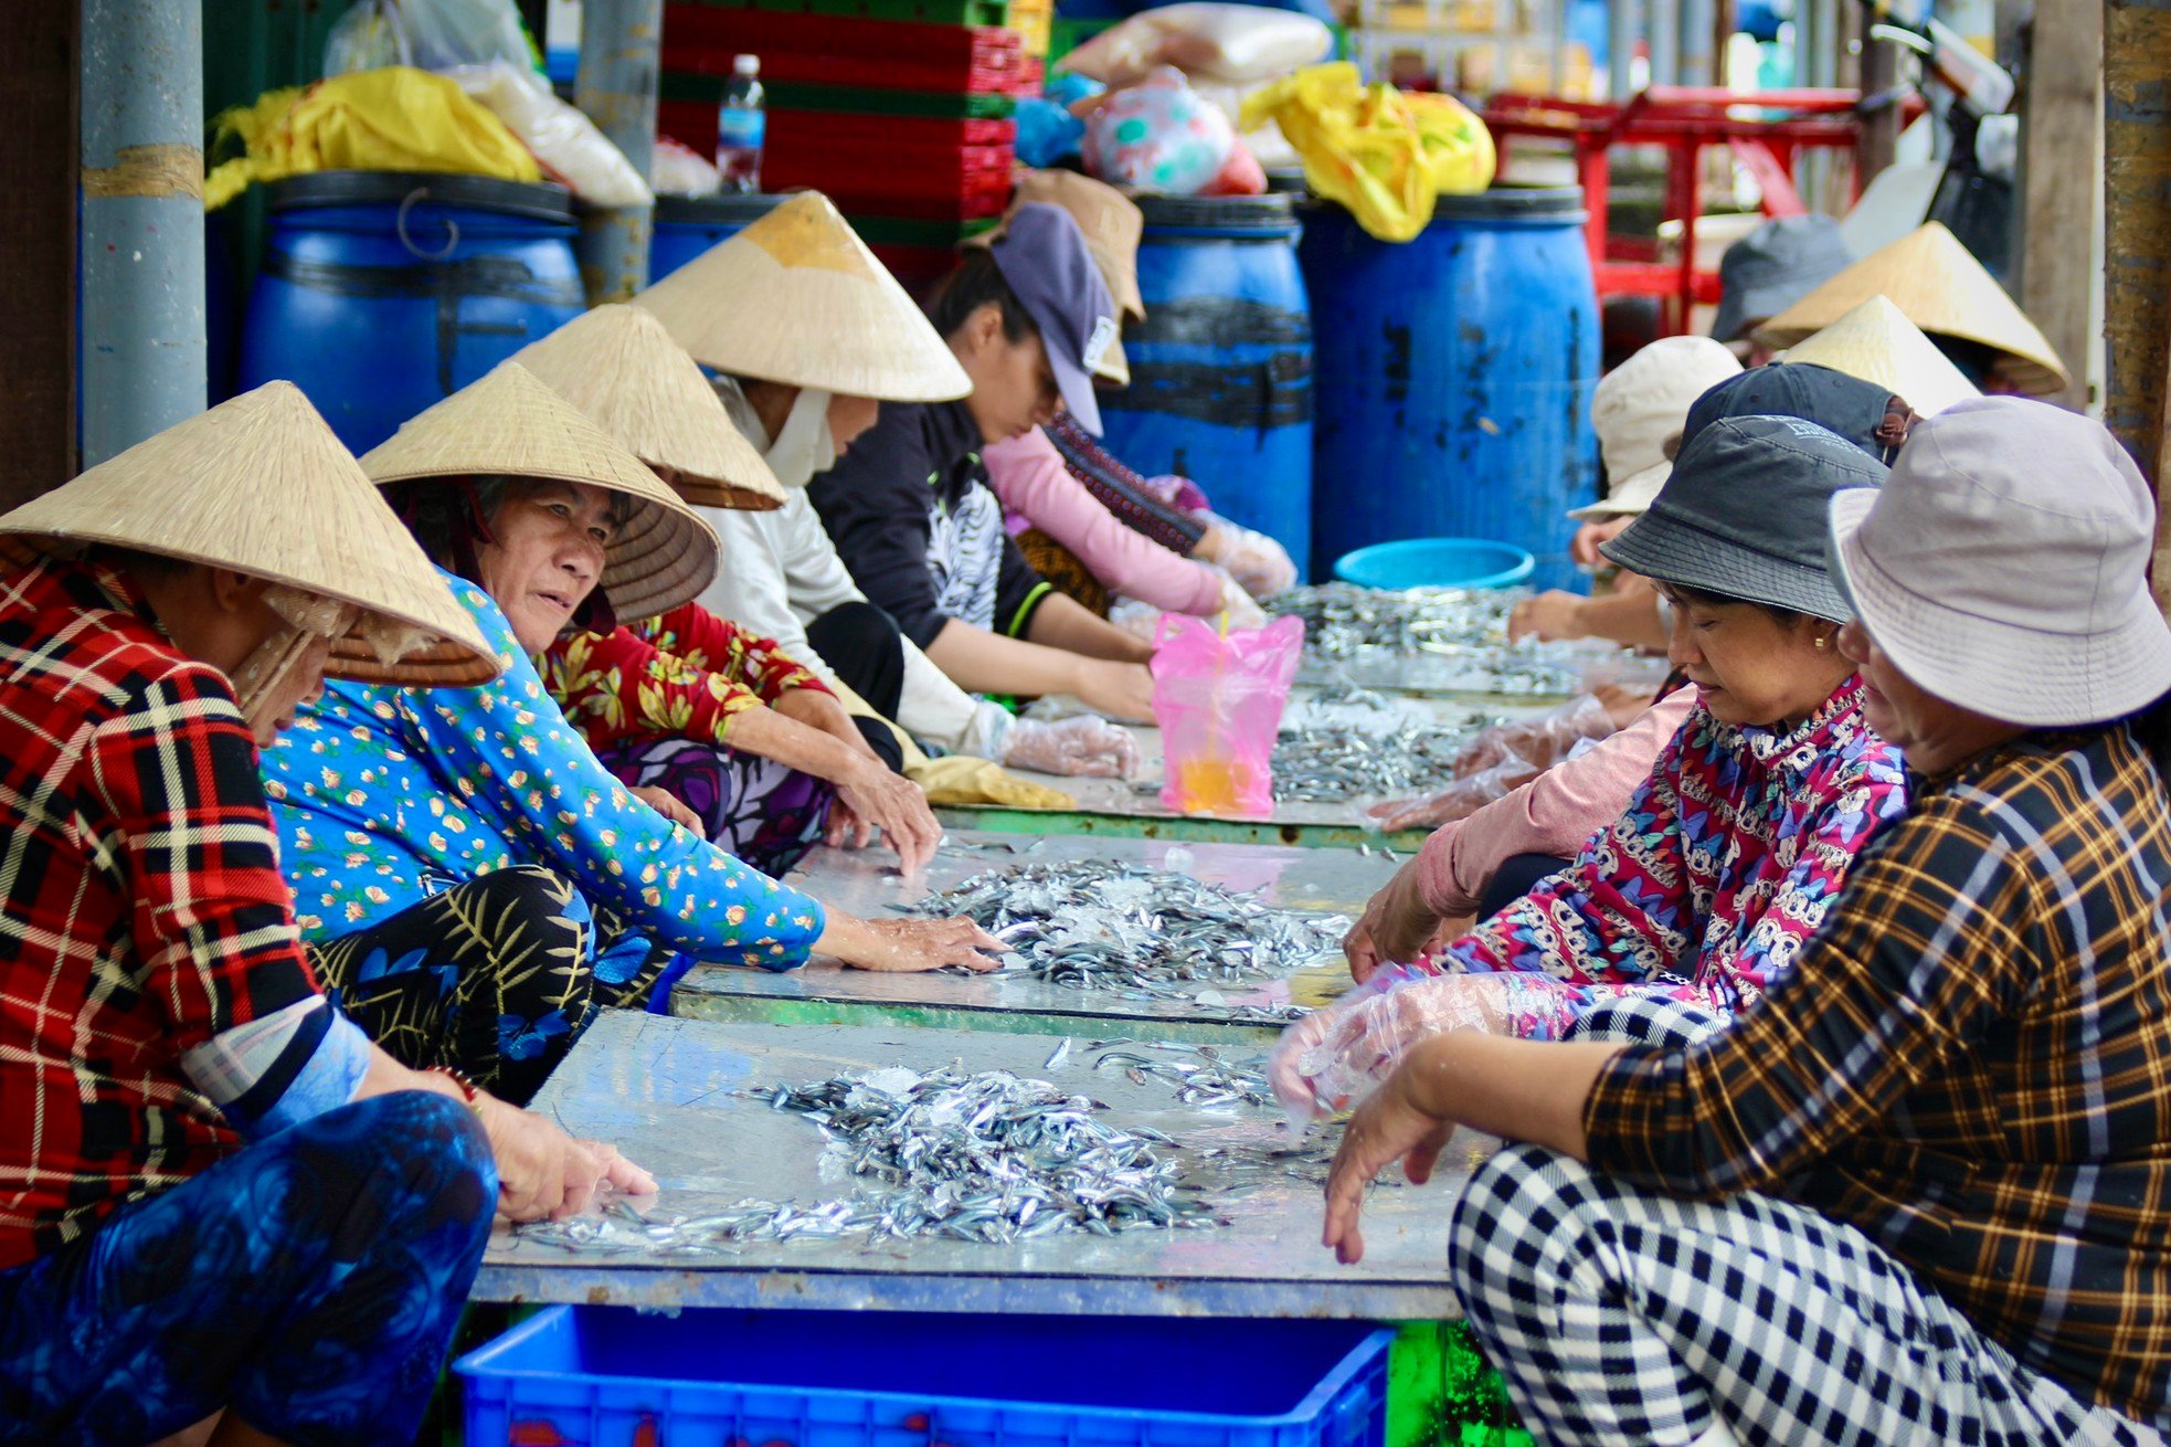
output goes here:
{"type": "Polygon", "coordinates": [[[2171,630],[2095,421],[1924,421],[1832,498],[1841,647],[1906,750],[1793,967],[1724,1030],[1450,1032],[1357,1110],[1326,1243],[1455,1125],[1455,1293],[1546,1443],[2156,1445],[2171,1432],[2171,630]],[[1622,1045],[1620,1034],[1639,1043],[1622,1045]]]}

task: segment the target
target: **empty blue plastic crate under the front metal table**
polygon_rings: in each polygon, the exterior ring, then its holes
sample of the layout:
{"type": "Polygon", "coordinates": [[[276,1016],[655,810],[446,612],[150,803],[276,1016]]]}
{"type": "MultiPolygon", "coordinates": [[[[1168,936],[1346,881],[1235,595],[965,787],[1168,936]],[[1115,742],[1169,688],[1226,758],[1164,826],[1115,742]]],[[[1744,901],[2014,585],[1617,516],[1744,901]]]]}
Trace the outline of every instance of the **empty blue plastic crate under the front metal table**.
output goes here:
{"type": "Polygon", "coordinates": [[[554,1306],[456,1364],[467,1447],[1381,1447],[1353,1321],[554,1306]]]}

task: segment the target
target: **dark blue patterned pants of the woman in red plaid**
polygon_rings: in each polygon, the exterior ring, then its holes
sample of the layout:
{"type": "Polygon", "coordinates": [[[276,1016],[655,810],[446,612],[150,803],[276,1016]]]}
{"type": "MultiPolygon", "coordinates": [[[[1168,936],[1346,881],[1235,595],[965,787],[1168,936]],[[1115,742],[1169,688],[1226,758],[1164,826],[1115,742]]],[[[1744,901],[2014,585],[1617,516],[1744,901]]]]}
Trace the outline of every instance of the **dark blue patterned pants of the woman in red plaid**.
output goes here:
{"type": "Polygon", "coordinates": [[[141,1447],[228,1410],[295,1447],[406,1443],[497,1206],[456,1099],[330,1110],[0,1271],[0,1445],[141,1447]]]}

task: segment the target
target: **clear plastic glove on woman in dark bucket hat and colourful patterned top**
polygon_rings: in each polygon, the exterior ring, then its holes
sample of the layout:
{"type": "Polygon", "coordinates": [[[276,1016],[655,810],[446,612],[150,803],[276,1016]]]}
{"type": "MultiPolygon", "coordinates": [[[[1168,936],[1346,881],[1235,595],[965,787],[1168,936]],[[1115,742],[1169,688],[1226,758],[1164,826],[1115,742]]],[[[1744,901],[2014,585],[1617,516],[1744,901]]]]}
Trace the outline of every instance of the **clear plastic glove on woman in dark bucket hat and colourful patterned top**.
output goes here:
{"type": "Polygon", "coordinates": [[[1281,1032],[1266,1060],[1292,1112],[1329,1119],[1383,1082],[1418,1041],[1446,1030],[1513,1032],[1518,1019],[1554,1019],[1559,991],[1544,976],[1433,976],[1392,965],[1372,982],[1281,1032]]]}

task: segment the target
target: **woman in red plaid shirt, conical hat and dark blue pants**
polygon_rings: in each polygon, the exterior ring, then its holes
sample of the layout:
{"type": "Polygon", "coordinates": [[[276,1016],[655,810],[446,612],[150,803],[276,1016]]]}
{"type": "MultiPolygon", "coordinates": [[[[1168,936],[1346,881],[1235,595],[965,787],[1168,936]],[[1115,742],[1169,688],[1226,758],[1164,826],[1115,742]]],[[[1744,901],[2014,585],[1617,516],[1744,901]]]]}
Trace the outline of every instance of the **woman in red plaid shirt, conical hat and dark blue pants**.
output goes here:
{"type": "Polygon", "coordinates": [[[404,1443],[493,1210],[653,1182],[326,1002],[256,750],[497,663],[287,382],[0,534],[0,1436],[404,1443]]]}

